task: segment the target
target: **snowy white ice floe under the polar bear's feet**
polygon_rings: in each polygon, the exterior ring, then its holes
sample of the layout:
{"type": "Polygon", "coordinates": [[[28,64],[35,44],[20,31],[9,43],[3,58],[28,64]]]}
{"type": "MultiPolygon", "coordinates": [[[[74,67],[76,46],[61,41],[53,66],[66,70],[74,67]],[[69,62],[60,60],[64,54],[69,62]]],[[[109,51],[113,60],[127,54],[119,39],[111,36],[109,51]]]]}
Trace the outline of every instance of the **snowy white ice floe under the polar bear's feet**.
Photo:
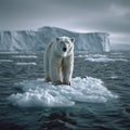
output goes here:
{"type": "Polygon", "coordinates": [[[17,83],[23,93],[14,93],[9,101],[20,107],[74,106],[76,102],[104,103],[116,99],[103,81],[92,77],[76,77],[72,86],[54,86],[43,79],[24,80],[17,83]]]}

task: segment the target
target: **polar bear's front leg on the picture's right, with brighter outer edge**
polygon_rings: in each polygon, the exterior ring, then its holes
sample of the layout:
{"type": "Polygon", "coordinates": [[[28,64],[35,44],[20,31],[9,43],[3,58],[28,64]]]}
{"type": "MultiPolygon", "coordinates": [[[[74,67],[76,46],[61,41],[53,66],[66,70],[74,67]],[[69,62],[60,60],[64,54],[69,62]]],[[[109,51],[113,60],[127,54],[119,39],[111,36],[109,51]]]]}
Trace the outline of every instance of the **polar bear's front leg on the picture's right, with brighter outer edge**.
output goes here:
{"type": "Polygon", "coordinates": [[[70,86],[74,69],[74,56],[66,57],[63,62],[63,83],[70,86]]]}

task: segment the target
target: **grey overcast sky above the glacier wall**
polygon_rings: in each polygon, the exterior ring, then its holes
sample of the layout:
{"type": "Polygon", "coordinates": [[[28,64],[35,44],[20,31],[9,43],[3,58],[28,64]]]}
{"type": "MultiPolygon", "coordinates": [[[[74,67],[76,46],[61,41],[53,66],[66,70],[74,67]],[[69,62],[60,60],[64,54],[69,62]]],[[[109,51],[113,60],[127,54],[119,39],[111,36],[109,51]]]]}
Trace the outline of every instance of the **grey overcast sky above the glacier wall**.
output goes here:
{"type": "Polygon", "coordinates": [[[0,30],[54,26],[130,43],[130,0],[0,0],[0,30]]]}

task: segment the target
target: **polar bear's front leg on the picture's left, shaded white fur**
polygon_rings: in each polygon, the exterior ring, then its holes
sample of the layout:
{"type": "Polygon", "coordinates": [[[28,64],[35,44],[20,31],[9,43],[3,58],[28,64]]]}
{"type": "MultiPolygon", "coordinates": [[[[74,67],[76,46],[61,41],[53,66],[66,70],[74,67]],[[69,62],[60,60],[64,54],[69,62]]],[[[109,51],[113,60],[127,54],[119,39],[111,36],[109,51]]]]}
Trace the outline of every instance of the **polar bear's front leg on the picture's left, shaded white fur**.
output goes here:
{"type": "Polygon", "coordinates": [[[62,84],[61,60],[54,56],[50,61],[50,76],[52,83],[62,84]]]}

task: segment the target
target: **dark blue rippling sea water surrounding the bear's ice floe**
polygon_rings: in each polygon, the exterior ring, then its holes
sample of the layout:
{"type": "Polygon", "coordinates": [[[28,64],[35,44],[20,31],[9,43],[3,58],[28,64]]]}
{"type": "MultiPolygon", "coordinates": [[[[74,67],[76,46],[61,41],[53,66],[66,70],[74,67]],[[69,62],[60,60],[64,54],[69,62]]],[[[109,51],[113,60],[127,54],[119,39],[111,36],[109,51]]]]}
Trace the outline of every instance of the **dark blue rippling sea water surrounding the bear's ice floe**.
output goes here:
{"type": "Polygon", "coordinates": [[[43,76],[42,52],[0,53],[0,130],[130,129],[130,52],[75,54],[73,77],[101,79],[116,99],[69,107],[20,107],[9,101],[23,93],[18,82],[43,76]]]}

